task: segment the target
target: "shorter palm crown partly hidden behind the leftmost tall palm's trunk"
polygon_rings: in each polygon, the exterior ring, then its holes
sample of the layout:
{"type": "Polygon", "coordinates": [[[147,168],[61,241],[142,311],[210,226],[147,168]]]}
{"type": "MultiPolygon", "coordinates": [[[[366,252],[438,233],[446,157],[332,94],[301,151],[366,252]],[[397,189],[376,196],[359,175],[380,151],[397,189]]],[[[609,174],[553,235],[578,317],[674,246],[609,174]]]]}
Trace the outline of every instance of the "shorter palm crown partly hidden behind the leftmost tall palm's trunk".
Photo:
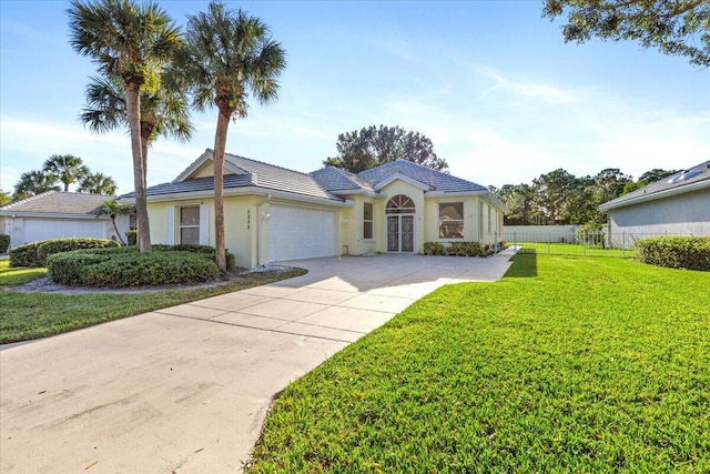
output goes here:
{"type": "MultiPolygon", "coordinates": [[[[159,88],[141,89],[141,154],[143,173],[148,170],[148,148],[159,135],[187,141],[194,127],[190,122],[187,97],[184,90],[163,74],[159,88]]],[[[79,119],[97,133],[129,125],[125,111],[125,90],[120,78],[93,77],[87,85],[87,105],[79,119]]],[[[145,178],[145,175],[144,175],[145,178]]]]}

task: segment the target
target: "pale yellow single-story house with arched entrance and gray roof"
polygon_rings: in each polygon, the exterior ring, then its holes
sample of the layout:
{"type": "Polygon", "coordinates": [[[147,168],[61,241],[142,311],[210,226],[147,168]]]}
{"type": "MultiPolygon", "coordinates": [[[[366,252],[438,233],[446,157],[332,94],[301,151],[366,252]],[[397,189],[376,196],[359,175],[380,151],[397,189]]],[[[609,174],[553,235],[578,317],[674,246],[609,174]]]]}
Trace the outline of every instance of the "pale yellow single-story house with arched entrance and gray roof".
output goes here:
{"type": "MultiPolygon", "coordinates": [[[[398,160],[353,174],[310,174],[226,154],[226,248],[236,264],[373,252],[420,253],[424,242],[500,240],[505,204],[486,188],[398,160]]],[[[214,245],[212,150],[146,190],[153,243],[214,245]]],[[[134,194],[121,196],[133,202],[134,194]]]]}

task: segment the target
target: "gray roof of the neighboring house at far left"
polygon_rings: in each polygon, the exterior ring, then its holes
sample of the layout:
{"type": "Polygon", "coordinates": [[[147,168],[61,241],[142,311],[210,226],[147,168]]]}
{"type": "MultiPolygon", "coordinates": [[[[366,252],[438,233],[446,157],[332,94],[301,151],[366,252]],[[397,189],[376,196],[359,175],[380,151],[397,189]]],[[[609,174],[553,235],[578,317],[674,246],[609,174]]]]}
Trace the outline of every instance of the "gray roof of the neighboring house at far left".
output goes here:
{"type": "Polygon", "coordinates": [[[112,195],[49,191],[3,205],[0,213],[98,215],[103,202],[112,199],[112,195]]]}

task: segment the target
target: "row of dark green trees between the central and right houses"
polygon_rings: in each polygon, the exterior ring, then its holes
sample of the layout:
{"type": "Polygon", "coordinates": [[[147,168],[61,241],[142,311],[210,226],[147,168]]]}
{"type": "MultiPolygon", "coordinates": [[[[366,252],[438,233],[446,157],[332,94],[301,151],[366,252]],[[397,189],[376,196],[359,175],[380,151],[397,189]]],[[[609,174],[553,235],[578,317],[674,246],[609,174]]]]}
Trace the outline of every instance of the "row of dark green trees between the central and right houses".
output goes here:
{"type": "Polygon", "coordinates": [[[575,177],[561,168],[532,180],[530,184],[505,184],[490,190],[505,201],[508,225],[577,224],[600,229],[607,216],[599,205],[662,180],[679,170],[653,169],[638,180],[617,168],[601,170],[594,177],[575,177]]]}

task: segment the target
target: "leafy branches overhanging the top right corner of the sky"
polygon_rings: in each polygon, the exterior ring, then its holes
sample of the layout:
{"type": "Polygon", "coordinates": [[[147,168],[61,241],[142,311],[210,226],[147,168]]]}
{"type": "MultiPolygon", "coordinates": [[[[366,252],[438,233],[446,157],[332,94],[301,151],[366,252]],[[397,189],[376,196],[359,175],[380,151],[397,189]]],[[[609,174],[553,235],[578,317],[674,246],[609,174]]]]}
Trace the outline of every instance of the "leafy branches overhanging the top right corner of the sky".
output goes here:
{"type": "Polygon", "coordinates": [[[643,48],[710,65],[708,0],[546,0],[542,16],[567,17],[565,42],[635,40],[643,48]]]}

